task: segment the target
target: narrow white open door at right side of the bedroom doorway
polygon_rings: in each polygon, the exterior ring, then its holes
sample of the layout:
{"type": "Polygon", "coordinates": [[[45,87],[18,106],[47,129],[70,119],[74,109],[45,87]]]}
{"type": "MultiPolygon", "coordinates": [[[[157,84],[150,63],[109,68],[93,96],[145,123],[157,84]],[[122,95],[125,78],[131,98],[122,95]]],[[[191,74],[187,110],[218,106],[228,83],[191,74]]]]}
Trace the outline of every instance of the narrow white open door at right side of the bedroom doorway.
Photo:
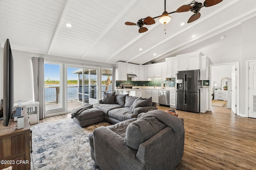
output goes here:
{"type": "Polygon", "coordinates": [[[231,68],[231,110],[236,114],[236,65],[231,68]]]}

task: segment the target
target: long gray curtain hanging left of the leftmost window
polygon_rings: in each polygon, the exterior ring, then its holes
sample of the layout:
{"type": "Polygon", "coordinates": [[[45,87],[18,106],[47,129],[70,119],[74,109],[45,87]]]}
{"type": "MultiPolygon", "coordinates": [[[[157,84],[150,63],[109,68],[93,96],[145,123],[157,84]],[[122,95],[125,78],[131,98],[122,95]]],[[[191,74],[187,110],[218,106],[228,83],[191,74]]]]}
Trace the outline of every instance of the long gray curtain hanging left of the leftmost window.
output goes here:
{"type": "Polygon", "coordinates": [[[44,101],[44,58],[32,57],[34,98],[39,102],[39,119],[46,117],[44,101]]]}

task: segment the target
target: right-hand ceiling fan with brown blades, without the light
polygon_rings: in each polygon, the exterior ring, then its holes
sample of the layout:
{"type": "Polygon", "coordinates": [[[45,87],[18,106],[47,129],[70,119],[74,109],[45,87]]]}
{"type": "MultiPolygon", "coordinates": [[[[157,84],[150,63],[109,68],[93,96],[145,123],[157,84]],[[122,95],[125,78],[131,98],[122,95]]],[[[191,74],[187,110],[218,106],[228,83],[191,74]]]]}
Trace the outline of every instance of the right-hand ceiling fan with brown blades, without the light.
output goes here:
{"type": "Polygon", "coordinates": [[[200,2],[192,1],[188,5],[182,5],[180,8],[176,10],[176,12],[187,12],[192,11],[194,14],[188,19],[188,23],[191,23],[193,21],[196,21],[198,18],[200,18],[200,10],[202,7],[209,7],[214,6],[218,3],[222,2],[222,0],[205,0],[204,5],[200,2]]]}

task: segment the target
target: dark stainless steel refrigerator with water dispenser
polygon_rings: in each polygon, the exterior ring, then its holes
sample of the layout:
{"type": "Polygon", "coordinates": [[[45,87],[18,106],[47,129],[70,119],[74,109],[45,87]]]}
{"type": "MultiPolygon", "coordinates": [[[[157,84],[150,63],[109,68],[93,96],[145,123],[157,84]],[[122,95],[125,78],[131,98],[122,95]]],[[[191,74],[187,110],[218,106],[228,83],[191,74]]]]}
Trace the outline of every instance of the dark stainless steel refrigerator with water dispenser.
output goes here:
{"type": "Polygon", "coordinates": [[[179,71],[176,76],[176,109],[198,113],[200,111],[200,70],[179,71]]]}

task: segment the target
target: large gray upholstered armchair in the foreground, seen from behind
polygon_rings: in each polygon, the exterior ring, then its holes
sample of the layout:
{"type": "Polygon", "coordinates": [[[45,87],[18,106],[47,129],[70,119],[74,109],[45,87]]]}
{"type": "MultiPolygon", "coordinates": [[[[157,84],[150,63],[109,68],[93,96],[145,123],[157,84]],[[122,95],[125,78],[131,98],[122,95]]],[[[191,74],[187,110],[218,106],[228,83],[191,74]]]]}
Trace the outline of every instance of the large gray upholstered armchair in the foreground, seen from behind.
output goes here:
{"type": "Polygon", "coordinates": [[[184,151],[184,123],[154,110],[89,135],[91,157],[102,170],[174,170],[184,151]]]}

